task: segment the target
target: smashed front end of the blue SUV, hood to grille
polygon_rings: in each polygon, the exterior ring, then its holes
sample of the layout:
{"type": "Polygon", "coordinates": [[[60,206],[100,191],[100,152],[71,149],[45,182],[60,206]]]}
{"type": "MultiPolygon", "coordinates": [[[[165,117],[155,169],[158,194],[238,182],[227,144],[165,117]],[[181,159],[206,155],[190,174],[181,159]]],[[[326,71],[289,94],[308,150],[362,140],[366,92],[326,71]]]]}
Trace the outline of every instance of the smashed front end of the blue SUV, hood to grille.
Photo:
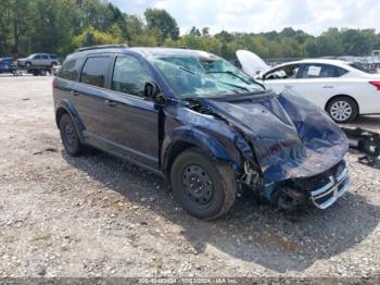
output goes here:
{"type": "Polygon", "coordinates": [[[307,203],[326,209],[347,191],[347,139],[308,101],[266,91],[200,103],[236,132],[235,145],[245,161],[240,187],[284,210],[307,203]]]}

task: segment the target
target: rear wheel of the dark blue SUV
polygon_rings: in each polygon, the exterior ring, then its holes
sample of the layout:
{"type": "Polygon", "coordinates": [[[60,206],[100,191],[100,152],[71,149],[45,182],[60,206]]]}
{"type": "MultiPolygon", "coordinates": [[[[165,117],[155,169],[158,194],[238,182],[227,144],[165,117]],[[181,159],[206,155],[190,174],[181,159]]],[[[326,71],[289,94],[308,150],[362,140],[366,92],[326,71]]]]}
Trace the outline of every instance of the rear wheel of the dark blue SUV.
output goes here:
{"type": "Polygon", "coordinates": [[[81,154],[84,145],[80,142],[78,132],[68,114],[62,115],[60,120],[60,133],[66,152],[72,157],[81,154]]]}

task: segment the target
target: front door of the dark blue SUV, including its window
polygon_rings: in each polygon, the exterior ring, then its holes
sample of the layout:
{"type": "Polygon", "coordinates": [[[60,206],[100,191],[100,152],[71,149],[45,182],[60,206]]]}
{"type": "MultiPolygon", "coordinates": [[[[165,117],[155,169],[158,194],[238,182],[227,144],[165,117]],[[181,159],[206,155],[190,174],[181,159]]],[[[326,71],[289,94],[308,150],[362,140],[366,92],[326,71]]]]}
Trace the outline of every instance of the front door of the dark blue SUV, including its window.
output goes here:
{"type": "Polygon", "coordinates": [[[143,89],[152,76],[134,57],[117,57],[111,88],[104,100],[106,139],[113,151],[159,168],[159,107],[143,99],[143,89]]]}

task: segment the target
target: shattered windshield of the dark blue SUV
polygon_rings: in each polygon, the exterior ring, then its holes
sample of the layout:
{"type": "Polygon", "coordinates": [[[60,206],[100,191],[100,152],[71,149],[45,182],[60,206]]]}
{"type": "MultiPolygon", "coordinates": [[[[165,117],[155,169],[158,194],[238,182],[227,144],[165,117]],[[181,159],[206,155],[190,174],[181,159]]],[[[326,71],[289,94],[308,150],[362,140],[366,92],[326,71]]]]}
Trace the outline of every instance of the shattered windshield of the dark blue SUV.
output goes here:
{"type": "Polygon", "coordinates": [[[155,55],[150,61],[164,75],[176,97],[224,97],[264,88],[231,63],[211,53],[155,55]]]}

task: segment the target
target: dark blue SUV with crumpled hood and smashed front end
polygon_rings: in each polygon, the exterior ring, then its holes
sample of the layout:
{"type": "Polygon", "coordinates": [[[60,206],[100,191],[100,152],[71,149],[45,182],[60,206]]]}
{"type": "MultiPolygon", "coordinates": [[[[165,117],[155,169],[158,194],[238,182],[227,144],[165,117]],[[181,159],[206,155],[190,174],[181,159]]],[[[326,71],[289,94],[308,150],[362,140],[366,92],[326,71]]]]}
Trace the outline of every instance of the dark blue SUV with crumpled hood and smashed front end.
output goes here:
{"type": "Polygon", "coordinates": [[[284,210],[326,209],[350,185],[347,139],[324,111],[204,51],[81,48],[53,97],[68,154],[92,146],[144,166],[200,219],[226,213],[242,189],[284,210]]]}

